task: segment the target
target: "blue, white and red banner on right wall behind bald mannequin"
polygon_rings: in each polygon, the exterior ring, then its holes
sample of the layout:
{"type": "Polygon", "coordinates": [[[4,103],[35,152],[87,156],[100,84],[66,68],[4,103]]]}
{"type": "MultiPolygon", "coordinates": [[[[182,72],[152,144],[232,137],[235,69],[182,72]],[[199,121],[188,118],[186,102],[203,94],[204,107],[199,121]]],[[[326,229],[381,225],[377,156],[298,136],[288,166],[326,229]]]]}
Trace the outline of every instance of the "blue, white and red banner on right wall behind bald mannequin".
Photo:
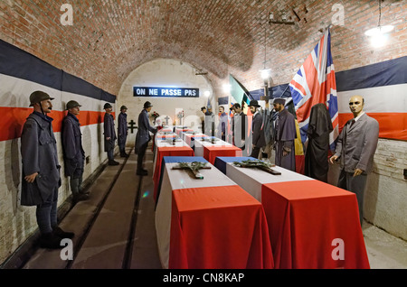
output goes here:
{"type": "Polygon", "coordinates": [[[379,122],[379,137],[407,141],[407,56],[336,73],[339,131],[353,118],[349,98],[364,97],[364,112],[379,122]]]}

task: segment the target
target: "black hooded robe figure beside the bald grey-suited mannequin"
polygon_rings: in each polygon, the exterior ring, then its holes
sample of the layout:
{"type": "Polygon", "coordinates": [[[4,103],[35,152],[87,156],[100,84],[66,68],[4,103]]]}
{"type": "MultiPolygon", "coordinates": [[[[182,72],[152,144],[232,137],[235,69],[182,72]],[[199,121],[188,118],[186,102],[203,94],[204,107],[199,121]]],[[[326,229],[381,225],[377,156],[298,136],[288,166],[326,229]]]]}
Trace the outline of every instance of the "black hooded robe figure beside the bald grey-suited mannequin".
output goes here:
{"type": "Polygon", "coordinates": [[[305,175],[327,182],[329,133],[333,130],[327,106],[320,103],[311,108],[308,123],[308,146],[305,175]]]}

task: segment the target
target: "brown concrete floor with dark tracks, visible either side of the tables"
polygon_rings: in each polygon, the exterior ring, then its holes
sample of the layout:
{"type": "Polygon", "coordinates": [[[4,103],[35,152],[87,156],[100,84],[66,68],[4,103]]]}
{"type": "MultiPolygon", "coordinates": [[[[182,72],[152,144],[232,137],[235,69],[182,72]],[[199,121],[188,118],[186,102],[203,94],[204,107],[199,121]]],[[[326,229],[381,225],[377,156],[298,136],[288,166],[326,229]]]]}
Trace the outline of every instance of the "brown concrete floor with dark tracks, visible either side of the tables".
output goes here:
{"type": "MultiPolygon", "coordinates": [[[[60,250],[37,249],[24,269],[161,269],[154,223],[153,154],[149,175],[135,175],[137,155],[107,166],[90,187],[90,199],[71,208],[61,227],[74,231],[74,260],[60,250]]],[[[364,222],[364,242],[372,269],[407,269],[407,242],[364,222]]]]}

